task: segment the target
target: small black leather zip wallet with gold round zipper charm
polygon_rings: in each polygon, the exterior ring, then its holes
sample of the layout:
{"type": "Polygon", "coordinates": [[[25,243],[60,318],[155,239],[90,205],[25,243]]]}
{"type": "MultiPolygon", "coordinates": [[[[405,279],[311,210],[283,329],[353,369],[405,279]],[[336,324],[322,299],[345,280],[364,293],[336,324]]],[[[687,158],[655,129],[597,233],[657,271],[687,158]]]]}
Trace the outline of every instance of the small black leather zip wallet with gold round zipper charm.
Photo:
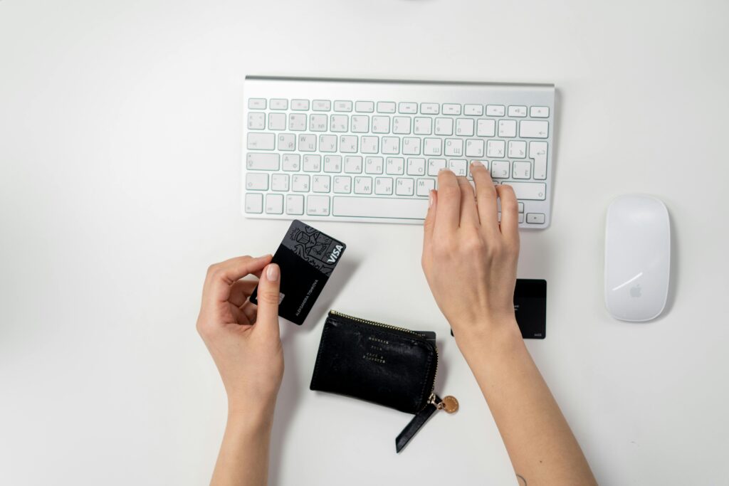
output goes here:
{"type": "Polygon", "coordinates": [[[332,310],[321,332],[310,388],[415,414],[395,441],[400,452],[434,412],[458,409],[455,398],[434,393],[437,368],[434,333],[332,310]]]}

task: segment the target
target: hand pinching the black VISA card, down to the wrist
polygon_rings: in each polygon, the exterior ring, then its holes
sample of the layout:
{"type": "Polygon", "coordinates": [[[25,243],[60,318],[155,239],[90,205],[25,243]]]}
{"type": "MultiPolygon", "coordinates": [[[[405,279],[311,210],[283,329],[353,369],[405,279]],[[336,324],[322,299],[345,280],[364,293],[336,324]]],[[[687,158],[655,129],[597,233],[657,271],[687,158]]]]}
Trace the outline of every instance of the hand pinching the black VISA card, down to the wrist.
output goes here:
{"type": "Polygon", "coordinates": [[[284,375],[278,330],[281,270],[270,255],[239,256],[208,269],[198,332],[213,356],[228,396],[230,413],[273,417],[284,375]],[[256,275],[260,281],[241,280],[256,275]],[[249,296],[258,283],[258,305],[249,296]]]}

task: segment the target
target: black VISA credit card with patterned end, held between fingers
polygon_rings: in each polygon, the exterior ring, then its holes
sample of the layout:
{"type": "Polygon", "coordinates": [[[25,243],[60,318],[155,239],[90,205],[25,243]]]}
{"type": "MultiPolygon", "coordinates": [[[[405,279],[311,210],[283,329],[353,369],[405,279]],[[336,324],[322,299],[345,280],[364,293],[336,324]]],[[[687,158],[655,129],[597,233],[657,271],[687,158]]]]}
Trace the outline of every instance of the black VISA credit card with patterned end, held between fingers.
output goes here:
{"type": "MultiPolygon", "coordinates": [[[[345,248],[341,241],[295,219],[271,260],[281,267],[278,315],[303,324],[345,248]]],[[[250,298],[254,304],[257,296],[258,287],[250,298]]]]}

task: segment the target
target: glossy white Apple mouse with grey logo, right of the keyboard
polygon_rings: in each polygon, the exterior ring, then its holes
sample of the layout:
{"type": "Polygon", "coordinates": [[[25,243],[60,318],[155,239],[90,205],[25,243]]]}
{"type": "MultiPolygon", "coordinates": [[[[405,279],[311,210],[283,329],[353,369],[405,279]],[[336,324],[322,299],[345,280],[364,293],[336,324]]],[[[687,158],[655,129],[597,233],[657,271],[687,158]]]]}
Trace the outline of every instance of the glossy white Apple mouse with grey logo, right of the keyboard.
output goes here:
{"type": "Polygon", "coordinates": [[[605,225],[605,305],[621,321],[650,321],[663,312],[671,266],[668,210],[647,195],[616,197],[605,225]]]}

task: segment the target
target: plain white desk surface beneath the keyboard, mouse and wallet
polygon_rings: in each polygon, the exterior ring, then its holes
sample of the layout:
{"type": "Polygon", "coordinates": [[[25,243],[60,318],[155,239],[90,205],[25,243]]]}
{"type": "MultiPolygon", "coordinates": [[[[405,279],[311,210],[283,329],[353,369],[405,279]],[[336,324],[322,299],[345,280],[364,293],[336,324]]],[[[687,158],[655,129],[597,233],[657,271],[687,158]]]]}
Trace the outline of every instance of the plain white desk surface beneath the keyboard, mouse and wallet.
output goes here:
{"type": "MultiPolygon", "coordinates": [[[[529,350],[601,484],[727,484],[729,4],[678,3],[0,2],[0,484],[208,481],[225,396],[195,332],[203,275],[287,227],[238,209],[246,74],[554,82],[553,224],[519,260],[548,282],[529,350]],[[625,192],[671,213],[650,324],[603,305],[604,215],[625,192]]],[[[271,484],[515,484],[421,228],[319,227],[349,247],[283,329],[271,484]],[[329,307],[436,331],[437,389],[461,411],[395,455],[410,416],[309,391],[329,307]]]]}

